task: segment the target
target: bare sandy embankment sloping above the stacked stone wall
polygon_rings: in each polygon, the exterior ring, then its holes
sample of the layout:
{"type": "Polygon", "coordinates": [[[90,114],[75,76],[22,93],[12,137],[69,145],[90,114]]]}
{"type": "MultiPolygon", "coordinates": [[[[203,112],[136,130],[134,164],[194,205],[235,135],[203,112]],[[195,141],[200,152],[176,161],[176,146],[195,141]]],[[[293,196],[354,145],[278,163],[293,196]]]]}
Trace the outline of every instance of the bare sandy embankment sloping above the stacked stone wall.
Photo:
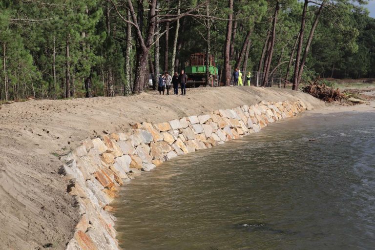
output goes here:
{"type": "Polygon", "coordinates": [[[66,193],[61,162],[70,151],[103,130],[126,131],[129,123],[160,123],[209,114],[261,100],[303,100],[308,109],[325,104],[301,92],[255,87],[189,89],[187,96],[146,93],[132,97],[34,101],[0,110],[0,249],[65,249],[80,215],[66,193]],[[64,148],[64,150],[62,150],[64,148]]]}

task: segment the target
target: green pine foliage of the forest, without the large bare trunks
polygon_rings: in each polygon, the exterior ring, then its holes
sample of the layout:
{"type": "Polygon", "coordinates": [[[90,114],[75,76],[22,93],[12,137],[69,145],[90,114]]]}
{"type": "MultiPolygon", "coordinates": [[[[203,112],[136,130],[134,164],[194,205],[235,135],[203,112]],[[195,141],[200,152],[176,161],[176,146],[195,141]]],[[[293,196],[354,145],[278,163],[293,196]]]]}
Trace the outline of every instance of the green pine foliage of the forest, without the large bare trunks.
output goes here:
{"type": "MultiPolygon", "coordinates": [[[[117,1],[118,4],[124,2],[117,1]]],[[[163,9],[160,14],[175,13],[177,2],[171,0],[167,4],[160,1],[163,9]]],[[[182,1],[182,12],[201,2],[182,1]]],[[[137,2],[133,3],[137,12],[137,2]]],[[[232,66],[242,49],[246,34],[252,30],[249,60],[245,67],[249,70],[257,69],[275,3],[273,0],[234,0],[233,17],[237,19],[237,29],[232,41],[232,66]]],[[[144,1],[144,36],[147,30],[147,4],[148,1],[144,1]]],[[[366,9],[353,5],[351,1],[340,0],[334,4],[335,8],[323,9],[302,79],[308,81],[318,75],[336,78],[375,77],[375,20],[368,16],[366,9]]],[[[280,6],[271,70],[278,63],[289,61],[300,29],[303,2],[286,0],[280,6]]],[[[122,13],[125,12],[123,7],[119,6],[122,13]]],[[[194,13],[202,15],[206,13],[205,8],[202,6],[194,13]]],[[[228,1],[210,1],[210,8],[210,15],[215,17],[210,33],[211,53],[216,56],[220,70],[224,61],[228,1]]],[[[317,5],[309,5],[305,42],[316,9],[317,5]]],[[[179,33],[179,40],[182,41],[177,55],[181,63],[179,68],[184,67],[190,54],[206,50],[203,17],[187,16],[184,19],[185,27],[180,29],[184,31],[179,33]]],[[[165,22],[160,23],[162,32],[165,25],[165,22]]],[[[172,22],[168,44],[170,53],[174,32],[175,22],[172,22]]],[[[132,33],[134,36],[134,27],[132,33]]],[[[135,43],[133,37],[132,46],[135,43]]],[[[165,47],[163,43],[162,37],[161,55],[165,47]]],[[[125,47],[126,23],[118,17],[107,0],[0,1],[0,100],[5,99],[5,79],[8,99],[21,100],[30,96],[64,98],[67,67],[71,93],[75,97],[84,97],[87,92],[92,96],[123,95],[125,85],[129,85],[125,82],[125,47]],[[66,55],[67,45],[69,57],[66,55]],[[89,89],[85,88],[87,79],[91,82],[89,89]]],[[[150,54],[154,54],[153,49],[150,54]]],[[[133,48],[130,54],[131,79],[134,79],[135,59],[136,50],[133,48]]],[[[278,74],[284,75],[287,65],[281,64],[277,69],[278,74]]]]}

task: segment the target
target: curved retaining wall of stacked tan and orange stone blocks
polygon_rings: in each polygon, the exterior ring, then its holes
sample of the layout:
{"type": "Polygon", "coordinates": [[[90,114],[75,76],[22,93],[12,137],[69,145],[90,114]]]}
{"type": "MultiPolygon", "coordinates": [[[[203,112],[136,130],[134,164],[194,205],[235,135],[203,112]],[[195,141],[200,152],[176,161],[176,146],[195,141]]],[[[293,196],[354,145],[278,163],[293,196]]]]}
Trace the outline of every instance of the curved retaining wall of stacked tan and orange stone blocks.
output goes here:
{"type": "Polygon", "coordinates": [[[69,180],[81,215],[66,250],[119,250],[110,203],[124,182],[178,155],[223,144],[258,132],[307,107],[302,101],[262,101],[165,123],[137,123],[123,133],[86,139],[60,159],[59,173],[69,180]]]}

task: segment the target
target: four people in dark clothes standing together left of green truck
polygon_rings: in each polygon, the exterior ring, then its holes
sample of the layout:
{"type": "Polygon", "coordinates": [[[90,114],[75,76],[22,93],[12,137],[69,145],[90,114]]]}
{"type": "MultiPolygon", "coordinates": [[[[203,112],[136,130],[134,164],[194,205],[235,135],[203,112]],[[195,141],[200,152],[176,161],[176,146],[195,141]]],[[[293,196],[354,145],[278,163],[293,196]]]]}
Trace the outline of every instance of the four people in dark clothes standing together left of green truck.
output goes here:
{"type": "Polygon", "coordinates": [[[173,93],[178,95],[178,85],[181,86],[181,95],[186,95],[186,83],[187,83],[187,74],[185,74],[184,70],[181,70],[181,74],[178,75],[177,72],[174,72],[173,77],[168,74],[168,72],[163,73],[159,77],[158,81],[158,91],[159,95],[161,95],[167,89],[167,95],[169,95],[170,86],[173,85],[173,93]]]}

